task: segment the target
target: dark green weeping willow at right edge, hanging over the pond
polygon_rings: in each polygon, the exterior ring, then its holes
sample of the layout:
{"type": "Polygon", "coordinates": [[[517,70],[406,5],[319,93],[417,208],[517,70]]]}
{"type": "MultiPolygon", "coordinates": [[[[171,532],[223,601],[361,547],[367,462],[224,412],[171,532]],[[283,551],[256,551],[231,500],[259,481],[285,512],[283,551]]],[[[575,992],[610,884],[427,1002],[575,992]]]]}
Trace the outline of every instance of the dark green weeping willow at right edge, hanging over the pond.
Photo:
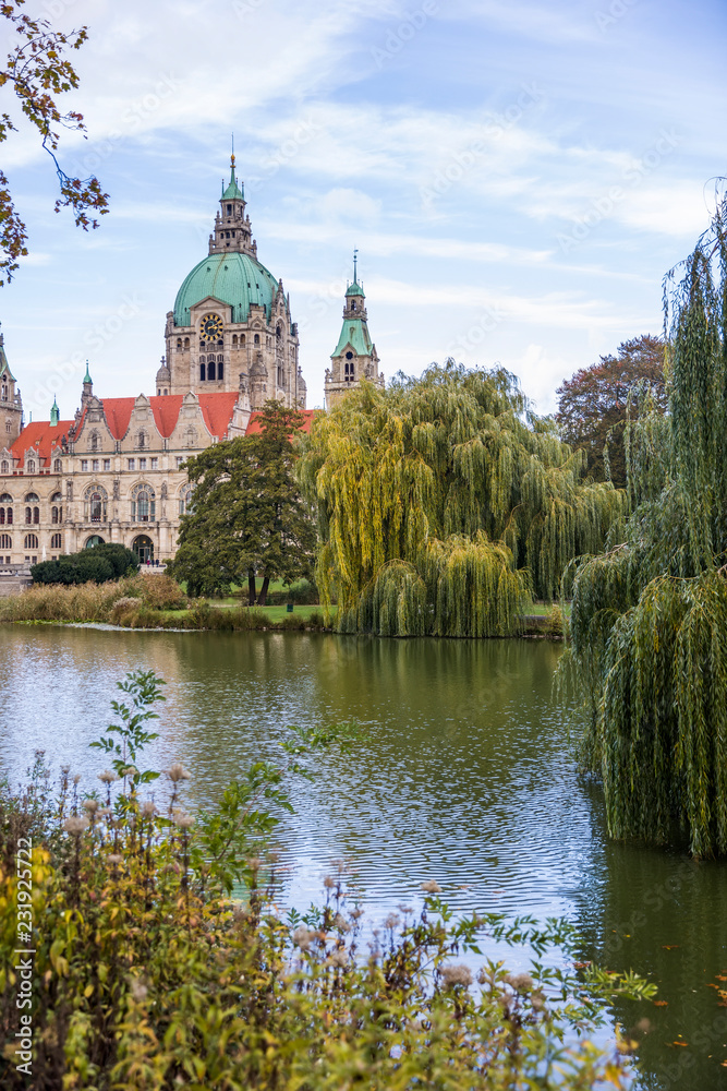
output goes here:
{"type": "Polygon", "coordinates": [[[632,514],[574,576],[570,668],[609,831],[727,852],[727,230],[665,280],[668,412],[628,429],[632,514]]]}

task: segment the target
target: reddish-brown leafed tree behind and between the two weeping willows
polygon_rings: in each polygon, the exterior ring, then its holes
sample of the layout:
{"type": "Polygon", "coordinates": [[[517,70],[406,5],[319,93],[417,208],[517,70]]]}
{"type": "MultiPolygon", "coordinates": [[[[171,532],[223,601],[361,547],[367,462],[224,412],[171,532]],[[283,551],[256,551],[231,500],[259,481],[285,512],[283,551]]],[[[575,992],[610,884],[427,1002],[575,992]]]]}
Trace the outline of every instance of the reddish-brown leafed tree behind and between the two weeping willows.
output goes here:
{"type": "Polygon", "coordinates": [[[626,488],[623,431],[649,391],[653,408],[666,410],[664,341],[644,334],[622,341],[616,356],[581,368],[558,387],[555,419],[566,443],[587,456],[587,471],[596,481],[609,476],[617,489],[626,488]],[[605,455],[607,451],[607,457],[605,455]]]}

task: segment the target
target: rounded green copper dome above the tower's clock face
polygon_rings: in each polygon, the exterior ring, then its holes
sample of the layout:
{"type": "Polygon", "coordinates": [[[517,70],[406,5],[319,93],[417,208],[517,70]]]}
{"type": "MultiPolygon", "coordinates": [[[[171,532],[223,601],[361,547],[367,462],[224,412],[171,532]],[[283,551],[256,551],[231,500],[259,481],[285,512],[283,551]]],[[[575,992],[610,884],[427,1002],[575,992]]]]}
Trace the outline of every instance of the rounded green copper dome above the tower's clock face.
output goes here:
{"type": "Polygon", "coordinates": [[[192,324],[190,309],[213,296],[232,308],[233,322],[246,322],[252,304],[264,307],[269,320],[278,281],[250,254],[210,254],[195,265],[174,300],[174,325],[192,324]]]}

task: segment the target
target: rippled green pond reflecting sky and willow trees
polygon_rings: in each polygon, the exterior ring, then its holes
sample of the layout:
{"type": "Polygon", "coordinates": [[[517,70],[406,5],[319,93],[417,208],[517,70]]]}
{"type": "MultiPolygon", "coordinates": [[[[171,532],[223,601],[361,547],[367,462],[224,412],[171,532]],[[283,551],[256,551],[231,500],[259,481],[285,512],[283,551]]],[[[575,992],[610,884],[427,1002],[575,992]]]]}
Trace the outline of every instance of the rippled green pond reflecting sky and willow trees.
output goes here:
{"type": "Polygon", "coordinates": [[[419,904],[428,878],[460,911],[566,916],[580,957],[650,975],[667,1002],[614,1012],[652,1024],[639,1087],[727,1088],[727,865],[608,840],[552,702],[560,645],[5,626],[0,649],[0,768],[13,780],[41,748],[95,787],[104,758],[88,743],[135,668],[168,682],[145,764],[183,762],[191,805],[276,757],[288,724],[366,724],[363,746],[294,784],[276,836],[281,903],[319,902],[344,860],[374,922],[419,904]]]}

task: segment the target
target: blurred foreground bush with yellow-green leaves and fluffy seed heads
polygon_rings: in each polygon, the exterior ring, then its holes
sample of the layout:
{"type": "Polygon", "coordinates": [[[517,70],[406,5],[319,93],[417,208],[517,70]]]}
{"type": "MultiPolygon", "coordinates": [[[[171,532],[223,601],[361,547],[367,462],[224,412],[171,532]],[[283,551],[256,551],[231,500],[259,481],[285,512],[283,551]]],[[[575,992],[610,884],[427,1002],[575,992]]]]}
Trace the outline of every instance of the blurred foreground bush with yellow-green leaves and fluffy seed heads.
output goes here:
{"type": "Polygon", "coordinates": [[[283,765],[256,763],[216,810],[193,816],[180,764],[154,795],[158,775],[136,766],[156,738],[147,721],[159,680],[140,672],[121,688],[120,723],[96,744],[111,766],[97,792],[82,798],[65,768],[53,796],[38,766],[20,795],[0,796],[4,1089],[627,1086],[629,1044],[604,1056],[587,1035],[606,996],[649,986],[595,970],[510,975],[487,963],[475,991],[461,963],[482,931],[538,954],[568,943],[556,922],[542,931],[495,915],[453,923],[428,880],[424,910],[402,909],[366,945],[340,873],[325,880],[322,909],[275,912],[259,855],[270,807],[289,807],[286,778],[306,771],[306,754],[347,744],[351,728],[298,732],[283,765]],[[17,853],[28,842],[32,865],[17,853]],[[27,1009],[16,1007],[19,948],[34,952],[27,1009]],[[21,1014],[32,1016],[28,1048],[21,1014]]]}

